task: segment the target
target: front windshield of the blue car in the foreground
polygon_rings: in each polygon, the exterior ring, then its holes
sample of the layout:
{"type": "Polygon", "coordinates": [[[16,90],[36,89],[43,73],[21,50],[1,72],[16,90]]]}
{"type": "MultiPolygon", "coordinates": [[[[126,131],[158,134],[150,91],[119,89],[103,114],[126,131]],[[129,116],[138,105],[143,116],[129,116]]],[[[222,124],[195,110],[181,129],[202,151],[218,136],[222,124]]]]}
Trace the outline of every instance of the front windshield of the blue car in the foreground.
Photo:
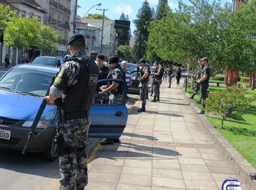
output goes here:
{"type": "Polygon", "coordinates": [[[24,95],[45,96],[55,74],[37,70],[13,68],[0,80],[1,90],[7,88],[24,95]]]}

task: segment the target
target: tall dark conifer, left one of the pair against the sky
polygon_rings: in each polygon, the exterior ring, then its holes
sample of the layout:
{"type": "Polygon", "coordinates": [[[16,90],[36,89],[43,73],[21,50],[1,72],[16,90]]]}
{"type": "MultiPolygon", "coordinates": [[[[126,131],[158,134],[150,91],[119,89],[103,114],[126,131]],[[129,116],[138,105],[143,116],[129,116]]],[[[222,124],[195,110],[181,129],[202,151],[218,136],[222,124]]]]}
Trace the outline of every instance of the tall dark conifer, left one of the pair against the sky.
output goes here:
{"type": "Polygon", "coordinates": [[[146,56],[146,42],[148,41],[148,27],[153,18],[153,11],[147,0],[142,3],[142,8],[139,9],[137,19],[133,21],[135,30],[133,32],[136,41],[133,50],[133,62],[146,56]]]}

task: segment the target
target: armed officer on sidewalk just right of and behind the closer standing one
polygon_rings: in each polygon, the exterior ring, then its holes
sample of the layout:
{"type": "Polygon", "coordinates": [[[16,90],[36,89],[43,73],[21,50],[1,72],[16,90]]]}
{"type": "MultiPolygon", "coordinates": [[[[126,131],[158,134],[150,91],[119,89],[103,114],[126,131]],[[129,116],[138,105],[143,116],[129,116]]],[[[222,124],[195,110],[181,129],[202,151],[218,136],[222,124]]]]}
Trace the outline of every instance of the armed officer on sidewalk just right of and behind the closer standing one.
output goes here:
{"type": "Polygon", "coordinates": [[[164,75],[164,68],[163,68],[163,61],[159,62],[159,68],[157,70],[157,73],[154,74],[155,78],[155,85],[154,85],[154,99],[151,100],[151,102],[160,101],[160,85],[162,84],[162,77],[164,75]]]}

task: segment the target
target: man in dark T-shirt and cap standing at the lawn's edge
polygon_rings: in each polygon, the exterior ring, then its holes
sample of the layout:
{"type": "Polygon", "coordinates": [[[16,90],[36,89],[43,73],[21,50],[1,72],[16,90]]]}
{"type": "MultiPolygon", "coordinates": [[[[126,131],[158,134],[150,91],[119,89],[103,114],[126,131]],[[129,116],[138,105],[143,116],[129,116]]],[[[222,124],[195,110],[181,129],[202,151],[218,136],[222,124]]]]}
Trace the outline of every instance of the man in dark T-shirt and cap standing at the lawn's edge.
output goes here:
{"type": "Polygon", "coordinates": [[[201,99],[201,110],[199,110],[198,114],[204,114],[205,104],[204,100],[207,98],[207,89],[209,87],[209,79],[211,76],[211,68],[208,65],[209,59],[204,57],[200,59],[201,64],[204,66],[201,72],[201,78],[197,80],[197,83],[200,84],[200,99],[201,99]]]}

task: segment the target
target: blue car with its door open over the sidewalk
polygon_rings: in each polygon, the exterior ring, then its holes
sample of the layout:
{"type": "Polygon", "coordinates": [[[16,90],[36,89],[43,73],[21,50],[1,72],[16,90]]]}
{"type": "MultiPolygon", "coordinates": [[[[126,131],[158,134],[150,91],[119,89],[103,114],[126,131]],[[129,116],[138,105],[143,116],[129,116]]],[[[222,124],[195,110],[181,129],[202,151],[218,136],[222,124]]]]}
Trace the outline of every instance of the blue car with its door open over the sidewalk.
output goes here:
{"type": "MultiPolygon", "coordinates": [[[[59,68],[37,64],[20,64],[11,68],[0,78],[0,147],[22,151],[27,140],[30,126],[59,68]]],[[[121,79],[117,80],[124,86],[121,104],[92,105],[89,112],[91,125],[89,138],[119,138],[126,127],[128,109],[126,107],[127,85],[121,79]]],[[[54,161],[51,155],[51,140],[56,134],[56,106],[46,105],[36,132],[29,141],[28,152],[43,152],[46,160],[54,161]]]]}

